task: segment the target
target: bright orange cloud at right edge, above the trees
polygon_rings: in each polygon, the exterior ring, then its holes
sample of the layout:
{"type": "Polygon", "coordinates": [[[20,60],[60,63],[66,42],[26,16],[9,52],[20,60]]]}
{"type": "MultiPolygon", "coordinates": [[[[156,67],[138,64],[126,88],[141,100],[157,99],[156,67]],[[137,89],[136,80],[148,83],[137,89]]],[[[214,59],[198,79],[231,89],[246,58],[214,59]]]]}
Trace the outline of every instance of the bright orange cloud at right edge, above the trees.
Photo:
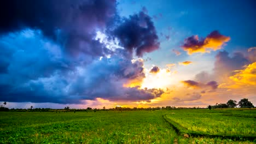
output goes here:
{"type": "Polygon", "coordinates": [[[256,62],[249,64],[244,70],[235,70],[229,78],[238,85],[256,85],[256,62]]]}

